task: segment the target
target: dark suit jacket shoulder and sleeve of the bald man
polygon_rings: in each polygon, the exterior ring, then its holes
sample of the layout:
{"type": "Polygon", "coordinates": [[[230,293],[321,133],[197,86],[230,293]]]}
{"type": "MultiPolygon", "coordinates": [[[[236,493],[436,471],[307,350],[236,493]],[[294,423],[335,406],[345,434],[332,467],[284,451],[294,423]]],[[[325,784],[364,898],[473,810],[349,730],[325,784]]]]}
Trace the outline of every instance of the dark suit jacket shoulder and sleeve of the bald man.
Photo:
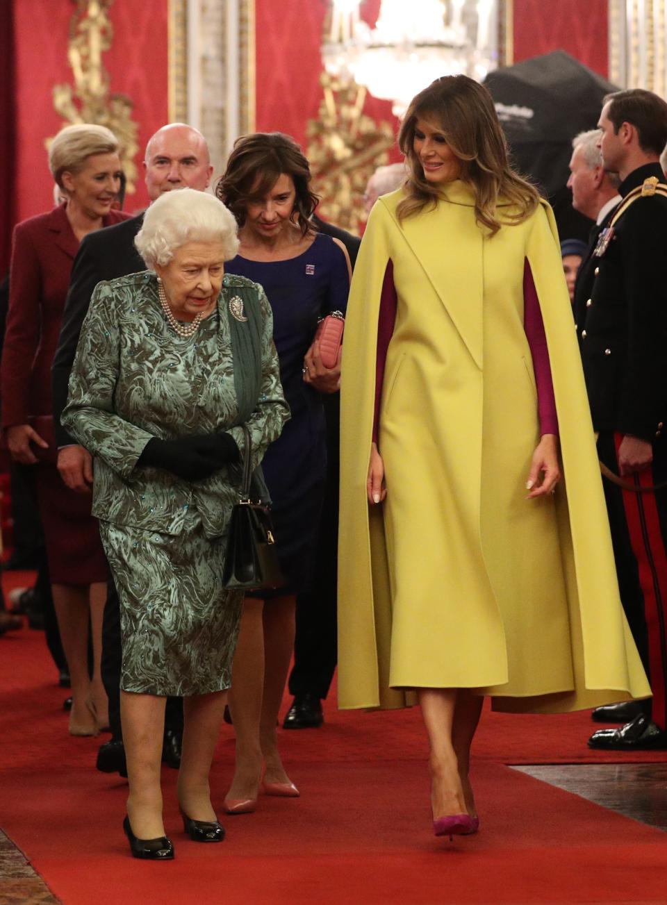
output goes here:
{"type": "Polygon", "coordinates": [[[132,217],[116,226],[87,235],[71,269],[62,328],[52,367],[53,424],[59,446],[76,443],[61,425],[62,409],[67,402],[71,366],[79,344],[81,325],[88,314],[92,291],[102,280],[115,280],[130,273],[145,271],[146,264],[134,245],[144,215],[132,217]]]}

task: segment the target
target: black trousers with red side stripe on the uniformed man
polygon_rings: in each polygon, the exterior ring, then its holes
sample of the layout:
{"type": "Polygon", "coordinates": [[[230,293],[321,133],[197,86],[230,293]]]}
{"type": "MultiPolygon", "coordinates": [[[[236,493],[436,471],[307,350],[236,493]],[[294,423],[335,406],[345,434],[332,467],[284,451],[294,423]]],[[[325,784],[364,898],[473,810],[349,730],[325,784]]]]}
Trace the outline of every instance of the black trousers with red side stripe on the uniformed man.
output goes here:
{"type": "MultiPolygon", "coordinates": [[[[620,434],[601,432],[600,461],[618,473],[620,434]]],[[[667,447],[653,444],[653,463],[626,481],[640,488],[667,481],[667,447]]],[[[667,728],[667,489],[633,492],[603,479],[616,574],[625,615],[653,691],[652,719],[667,728]]]]}

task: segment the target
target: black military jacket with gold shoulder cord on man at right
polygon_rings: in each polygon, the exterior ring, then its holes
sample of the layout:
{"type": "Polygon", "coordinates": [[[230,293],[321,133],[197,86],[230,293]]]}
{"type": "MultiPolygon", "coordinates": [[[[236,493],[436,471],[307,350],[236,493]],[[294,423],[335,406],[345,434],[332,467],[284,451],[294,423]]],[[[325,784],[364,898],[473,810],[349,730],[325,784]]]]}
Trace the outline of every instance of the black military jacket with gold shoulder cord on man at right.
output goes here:
{"type": "MultiPolygon", "coordinates": [[[[624,179],[625,197],[658,164],[624,179]]],[[[667,197],[640,197],[616,221],[614,238],[596,259],[588,298],[577,311],[586,388],[597,431],[655,442],[667,424],[667,197]],[[597,271],[597,272],[596,272],[597,271]]]]}

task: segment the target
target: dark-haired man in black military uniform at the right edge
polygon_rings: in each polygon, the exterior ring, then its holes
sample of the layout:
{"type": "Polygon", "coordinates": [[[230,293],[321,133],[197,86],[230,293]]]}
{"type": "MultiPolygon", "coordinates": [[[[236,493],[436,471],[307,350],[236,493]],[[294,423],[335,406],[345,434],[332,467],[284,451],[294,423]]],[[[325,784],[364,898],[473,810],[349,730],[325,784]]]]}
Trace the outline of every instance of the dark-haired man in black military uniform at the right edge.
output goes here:
{"type": "Polygon", "coordinates": [[[658,163],[667,103],[651,91],[618,91],[605,98],[598,126],[623,201],[598,238],[576,327],[621,598],[653,703],[588,744],[667,748],[667,185],[658,163]]]}

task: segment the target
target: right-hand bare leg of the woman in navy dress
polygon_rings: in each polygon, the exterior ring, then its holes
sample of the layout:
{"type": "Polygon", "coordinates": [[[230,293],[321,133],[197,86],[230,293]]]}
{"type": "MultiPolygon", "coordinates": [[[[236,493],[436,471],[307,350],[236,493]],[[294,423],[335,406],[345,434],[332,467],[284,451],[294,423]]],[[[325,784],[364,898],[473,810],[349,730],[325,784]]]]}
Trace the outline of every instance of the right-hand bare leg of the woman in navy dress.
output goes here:
{"type": "Polygon", "coordinates": [[[270,783],[289,783],[278,753],[276,720],[294,649],[296,597],[277,597],[264,606],[264,691],[260,743],[270,783]]]}

